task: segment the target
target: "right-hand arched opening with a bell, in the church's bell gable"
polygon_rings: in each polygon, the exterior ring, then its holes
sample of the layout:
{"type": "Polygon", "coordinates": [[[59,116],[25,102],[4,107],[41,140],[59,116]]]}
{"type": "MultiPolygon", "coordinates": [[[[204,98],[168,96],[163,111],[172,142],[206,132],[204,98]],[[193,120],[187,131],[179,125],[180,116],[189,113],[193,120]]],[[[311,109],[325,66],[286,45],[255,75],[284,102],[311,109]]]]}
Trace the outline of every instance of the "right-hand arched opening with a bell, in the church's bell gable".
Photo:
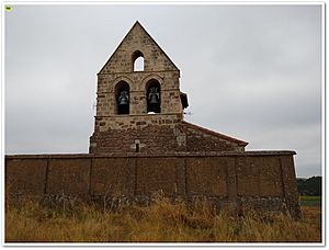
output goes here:
{"type": "Polygon", "coordinates": [[[146,84],[146,102],[147,113],[160,113],[161,112],[161,88],[160,83],[152,79],[146,84]]]}

